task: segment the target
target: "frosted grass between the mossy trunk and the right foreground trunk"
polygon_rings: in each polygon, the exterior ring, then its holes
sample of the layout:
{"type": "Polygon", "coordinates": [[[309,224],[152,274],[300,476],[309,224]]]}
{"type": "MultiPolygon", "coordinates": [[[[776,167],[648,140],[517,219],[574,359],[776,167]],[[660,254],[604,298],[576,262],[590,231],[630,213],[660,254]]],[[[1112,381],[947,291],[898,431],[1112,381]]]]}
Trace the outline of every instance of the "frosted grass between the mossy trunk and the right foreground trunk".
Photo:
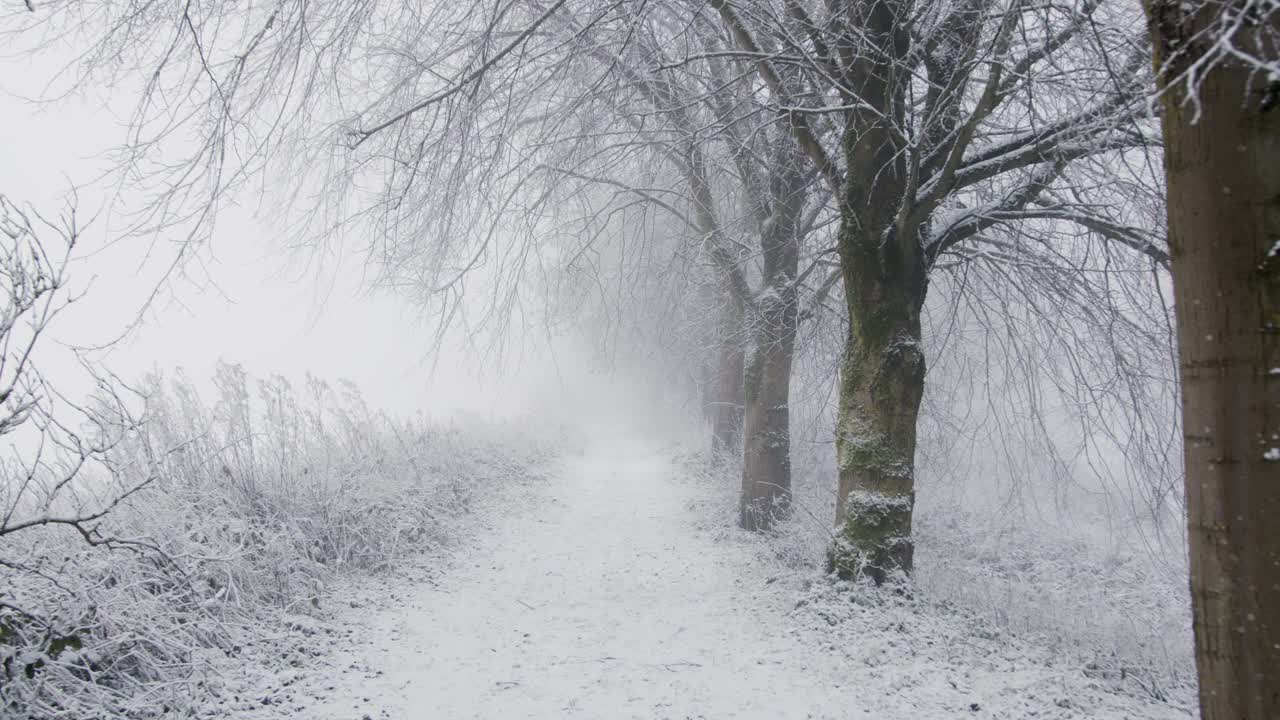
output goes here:
{"type": "Polygon", "coordinates": [[[1091,671],[1157,700],[1194,693],[1185,565],[1087,537],[956,514],[916,523],[924,593],[1088,657],[1091,671]],[[986,520],[986,521],[984,521],[986,520]]]}

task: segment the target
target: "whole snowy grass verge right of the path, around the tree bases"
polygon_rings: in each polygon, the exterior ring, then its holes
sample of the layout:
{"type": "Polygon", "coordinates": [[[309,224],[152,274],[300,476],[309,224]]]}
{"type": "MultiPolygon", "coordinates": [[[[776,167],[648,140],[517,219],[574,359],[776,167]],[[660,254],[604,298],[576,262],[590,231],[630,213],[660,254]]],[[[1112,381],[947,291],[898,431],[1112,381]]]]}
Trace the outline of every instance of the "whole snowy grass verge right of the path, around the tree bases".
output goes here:
{"type": "MultiPolygon", "coordinates": [[[[835,582],[824,568],[835,470],[819,452],[796,454],[792,516],[751,542],[774,578],[806,588],[797,600],[801,615],[847,625],[831,630],[833,643],[868,632],[868,623],[892,625],[899,618],[915,628],[900,643],[938,632],[956,635],[940,638],[938,647],[969,643],[996,652],[1004,644],[1005,657],[1033,646],[1043,651],[1037,662],[1074,665],[1107,692],[1194,707],[1185,566],[1175,559],[1152,548],[1117,551],[1088,534],[1065,537],[1019,516],[924,505],[915,515],[916,571],[905,594],[835,582]],[[920,629],[922,623],[938,629],[920,629]]],[[[700,454],[686,455],[682,466],[718,488],[696,512],[705,529],[744,542],[733,525],[741,469],[708,465],[700,454]]]]}

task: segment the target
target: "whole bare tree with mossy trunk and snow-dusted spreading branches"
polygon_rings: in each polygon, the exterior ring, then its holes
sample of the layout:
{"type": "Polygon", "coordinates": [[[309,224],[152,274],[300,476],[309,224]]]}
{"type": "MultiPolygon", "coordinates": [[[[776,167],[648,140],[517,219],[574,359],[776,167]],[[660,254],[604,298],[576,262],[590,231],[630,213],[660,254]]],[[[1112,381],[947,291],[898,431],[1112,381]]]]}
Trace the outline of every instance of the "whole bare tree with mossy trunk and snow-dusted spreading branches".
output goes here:
{"type": "Polygon", "coordinates": [[[920,311],[940,259],[1024,247],[1018,225],[1038,217],[1160,256],[1070,190],[1080,160],[1149,143],[1144,55],[1096,3],[713,6],[838,199],[850,323],[832,565],[881,582],[911,568],[920,311]],[[781,67],[803,68],[804,92],[781,67]]]}

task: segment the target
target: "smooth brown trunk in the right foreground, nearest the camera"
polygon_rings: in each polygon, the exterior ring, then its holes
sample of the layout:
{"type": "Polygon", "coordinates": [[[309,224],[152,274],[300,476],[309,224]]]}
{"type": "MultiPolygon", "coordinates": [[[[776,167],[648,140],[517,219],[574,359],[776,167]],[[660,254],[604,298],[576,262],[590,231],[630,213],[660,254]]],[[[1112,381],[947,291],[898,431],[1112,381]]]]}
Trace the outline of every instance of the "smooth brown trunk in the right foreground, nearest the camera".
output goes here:
{"type": "MultiPolygon", "coordinates": [[[[1224,8],[1239,5],[1148,5],[1164,78],[1204,58],[1215,38],[1197,33],[1224,8]],[[1181,54],[1174,56],[1175,49],[1181,54]]],[[[1248,32],[1230,41],[1270,53],[1275,63],[1276,47],[1252,42],[1248,32]]],[[[1192,609],[1206,719],[1280,717],[1276,91],[1265,72],[1233,59],[1207,70],[1192,102],[1181,83],[1164,94],[1192,609]]]]}

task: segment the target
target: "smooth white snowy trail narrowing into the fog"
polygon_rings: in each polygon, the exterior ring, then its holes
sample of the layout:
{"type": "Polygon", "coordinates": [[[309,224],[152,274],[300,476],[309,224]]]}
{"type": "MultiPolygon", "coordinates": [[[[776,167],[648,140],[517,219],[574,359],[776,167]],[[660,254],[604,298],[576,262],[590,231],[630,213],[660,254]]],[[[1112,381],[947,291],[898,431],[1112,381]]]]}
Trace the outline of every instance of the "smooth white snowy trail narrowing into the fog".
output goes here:
{"type": "Polygon", "coordinates": [[[352,694],[398,719],[796,716],[832,688],[756,623],[675,475],[643,445],[568,459],[541,507],[374,625],[390,651],[352,694]]]}

